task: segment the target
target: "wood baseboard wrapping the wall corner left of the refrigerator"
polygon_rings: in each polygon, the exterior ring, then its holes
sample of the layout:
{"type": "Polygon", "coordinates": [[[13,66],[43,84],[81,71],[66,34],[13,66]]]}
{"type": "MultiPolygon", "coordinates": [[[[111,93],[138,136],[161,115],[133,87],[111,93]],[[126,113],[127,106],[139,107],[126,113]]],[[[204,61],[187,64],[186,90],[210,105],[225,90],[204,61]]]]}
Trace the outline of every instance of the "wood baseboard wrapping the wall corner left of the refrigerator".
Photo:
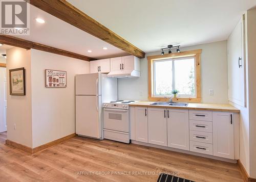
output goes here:
{"type": "Polygon", "coordinates": [[[9,145],[9,146],[18,148],[18,149],[23,150],[23,151],[25,151],[25,152],[28,152],[28,153],[30,153],[30,154],[34,154],[34,153],[36,153],[36,152],[45,150],[45,149],[47,149],[47,148],[49,148],[49,147],[51,147],[51,146],[53,146],[53,145],[56,145],[56,144],[58,144],[58,143],[60,143],[60,142],[66,141],[66,140],[68,140],[68,139],[71,139],[71,138],[73,138],[73,137],[75,137],[75,136],[76,136],[76,134],[74,133],[74,134],[68,135],[68,136],[66,136],[66,137],[62,137],[62,138],[60,138],[60,139],[57,139],[57,140],[54,140],[54,141],[52,141],[52,142],[46,143],[46,144],[44,144],[44,145],[40,145],[40,146],[35,147],[35,148],[27,147],[27,146],[25,146],[25,145],[22,145],[22,144],[13,142],[13,141],[11,141],[11,140],[6,140],[5,143],[6,143],[6,145],[9,145]]]}

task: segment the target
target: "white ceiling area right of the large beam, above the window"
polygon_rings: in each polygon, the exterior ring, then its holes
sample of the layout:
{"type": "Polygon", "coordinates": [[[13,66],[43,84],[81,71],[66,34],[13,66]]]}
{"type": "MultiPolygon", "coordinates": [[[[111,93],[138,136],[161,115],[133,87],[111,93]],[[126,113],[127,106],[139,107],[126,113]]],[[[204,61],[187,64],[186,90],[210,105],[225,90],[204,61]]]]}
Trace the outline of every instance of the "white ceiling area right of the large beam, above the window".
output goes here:
{"type": "Polygon", "coordinates": [[[226,40],[255,0],[68,0],[145,52],[226,40]]]}

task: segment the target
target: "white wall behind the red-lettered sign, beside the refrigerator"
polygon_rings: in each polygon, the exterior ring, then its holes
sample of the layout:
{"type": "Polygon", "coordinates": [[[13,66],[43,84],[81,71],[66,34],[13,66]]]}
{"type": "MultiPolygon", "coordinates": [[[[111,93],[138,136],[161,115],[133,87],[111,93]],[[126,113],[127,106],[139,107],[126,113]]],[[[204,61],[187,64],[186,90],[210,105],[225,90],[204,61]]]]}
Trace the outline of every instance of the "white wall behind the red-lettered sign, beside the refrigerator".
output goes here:
{"type": "Polygon", "coordinates": [[[75,133],[75,74],[90,63],[31,50],[33,148],[75,133]],[[46,88],[45,69],[67,71],[67,88],[46,88]]]}

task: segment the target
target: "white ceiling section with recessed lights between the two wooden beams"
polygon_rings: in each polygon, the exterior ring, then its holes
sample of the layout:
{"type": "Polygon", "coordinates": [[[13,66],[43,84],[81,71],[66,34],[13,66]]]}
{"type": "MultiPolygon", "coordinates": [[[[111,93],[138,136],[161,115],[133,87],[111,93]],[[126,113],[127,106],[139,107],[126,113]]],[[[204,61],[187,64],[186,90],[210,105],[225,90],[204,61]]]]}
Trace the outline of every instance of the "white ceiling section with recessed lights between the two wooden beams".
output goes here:
{"type": "Polygon", "coordinates": [[[96,59],[128,55],[123,50],[31,5],[30,35],[16,37],[96,59]],[[35,18],[37,17],[44,19],[46,22],[44,24],[36,22],[35,18]],[[108,49],[103,50],[103,47],[107,47],[108,49]],[[88,53],[87,50],[92,50],[92,53],[88,53]]]}

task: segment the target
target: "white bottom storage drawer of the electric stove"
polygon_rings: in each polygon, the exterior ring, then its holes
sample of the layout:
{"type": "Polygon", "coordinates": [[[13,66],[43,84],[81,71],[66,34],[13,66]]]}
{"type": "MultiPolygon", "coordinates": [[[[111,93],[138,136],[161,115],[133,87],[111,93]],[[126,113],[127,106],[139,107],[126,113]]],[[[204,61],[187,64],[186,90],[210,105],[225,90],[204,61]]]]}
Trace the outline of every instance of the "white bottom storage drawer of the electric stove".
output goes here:
{"type": "Polygon", "coordinates": [[[117,132],[110,129],[103,129],[104,139],[114,140],[123,143],[130,143],[130,135],[125,132],[117,132]]]}

